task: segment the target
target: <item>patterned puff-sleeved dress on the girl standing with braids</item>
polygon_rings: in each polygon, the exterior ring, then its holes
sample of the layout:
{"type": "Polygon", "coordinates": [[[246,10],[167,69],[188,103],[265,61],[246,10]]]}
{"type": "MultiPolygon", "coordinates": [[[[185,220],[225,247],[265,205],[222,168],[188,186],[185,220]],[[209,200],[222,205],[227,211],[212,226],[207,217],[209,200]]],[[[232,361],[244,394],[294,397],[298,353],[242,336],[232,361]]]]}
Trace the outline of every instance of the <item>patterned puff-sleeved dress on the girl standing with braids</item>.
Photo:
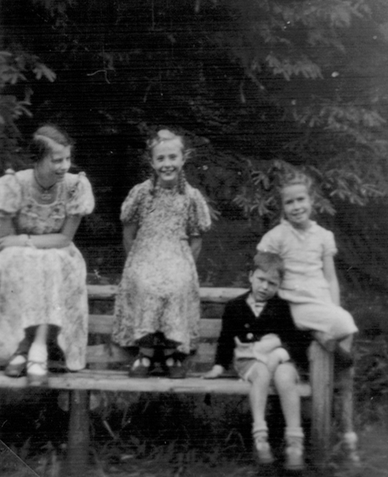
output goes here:
{"type": "Polygon", "coordinates": [[[199,283],[189,238],[210,228],[200,192],[135,185],[121,207],[124,224],[137,224],[115,304],[112,339],[121,346],[160,331],[189,353],[199,336],[199,283]]]}

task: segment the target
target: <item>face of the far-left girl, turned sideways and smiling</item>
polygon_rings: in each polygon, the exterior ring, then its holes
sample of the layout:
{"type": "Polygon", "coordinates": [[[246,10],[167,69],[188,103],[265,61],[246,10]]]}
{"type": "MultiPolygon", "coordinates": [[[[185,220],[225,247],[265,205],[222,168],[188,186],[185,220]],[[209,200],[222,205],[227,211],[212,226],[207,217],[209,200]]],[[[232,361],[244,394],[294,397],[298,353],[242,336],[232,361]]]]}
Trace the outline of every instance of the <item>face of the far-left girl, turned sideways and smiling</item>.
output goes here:
{"type": "Polygon", "coordinates": [[[71,146],[62,146],[56,142],[50,142],[51,152],[36,165],[40,177],[48,183],[59,182],[71,166],[71,146]]]}

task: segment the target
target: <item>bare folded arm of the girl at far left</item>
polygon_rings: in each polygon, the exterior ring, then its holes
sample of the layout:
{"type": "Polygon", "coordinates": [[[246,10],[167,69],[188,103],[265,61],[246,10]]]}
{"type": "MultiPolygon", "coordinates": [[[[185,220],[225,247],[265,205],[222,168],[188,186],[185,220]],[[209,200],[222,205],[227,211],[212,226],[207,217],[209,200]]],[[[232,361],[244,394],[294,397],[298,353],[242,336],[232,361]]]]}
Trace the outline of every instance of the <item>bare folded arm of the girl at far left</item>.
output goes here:
{"type": "Polygon", "coordinates": [[[43,235],[7,235],[0,239],[0,250],[7,247],[33,246],[35,248],[63,248],[71,244],[75,232],[80,226],[82,216],[66,218],[60,233],[47,233],[43,235]]]}

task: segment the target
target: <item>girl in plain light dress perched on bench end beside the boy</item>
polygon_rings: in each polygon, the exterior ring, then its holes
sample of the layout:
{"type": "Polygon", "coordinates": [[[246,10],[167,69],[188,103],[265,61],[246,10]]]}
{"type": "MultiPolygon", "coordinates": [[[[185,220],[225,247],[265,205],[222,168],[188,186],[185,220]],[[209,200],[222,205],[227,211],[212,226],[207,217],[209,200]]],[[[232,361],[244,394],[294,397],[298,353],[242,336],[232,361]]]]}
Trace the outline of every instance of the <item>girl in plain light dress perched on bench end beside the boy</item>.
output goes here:
{"type": "Polygon", "coordinates": [[[336,351],[338,361],[351,365],[357,327],[340,306],[334,235],[311,220],[313,181],[295,170],[283,177],[280,196],[284,218],[262,237],[257,249],[278,253],[284,260],[279,295],[289,302],[295,324],[313,330],[323,346],[336,351]]]}

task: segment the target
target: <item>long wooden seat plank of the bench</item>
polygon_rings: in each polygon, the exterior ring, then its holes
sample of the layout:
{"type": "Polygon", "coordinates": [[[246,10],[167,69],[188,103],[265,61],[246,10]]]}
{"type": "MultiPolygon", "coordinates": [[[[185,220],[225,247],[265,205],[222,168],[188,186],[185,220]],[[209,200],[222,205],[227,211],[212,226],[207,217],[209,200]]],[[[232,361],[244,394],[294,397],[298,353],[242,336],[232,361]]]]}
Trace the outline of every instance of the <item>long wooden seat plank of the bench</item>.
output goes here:
{"type": "MultiPolygon", "coordinates": [[[[27,378],[10,378],[0,372],[0,387],[27,387],[27,378]]],[[[124,371],[82,370],[76,373],[50,374],[47,387],[123,392],[245,395],[250,385],[237,378],[203,379],[200,376],[189,376],[184,379],[128,378],[128,373],[124,371]]],[[[311,396],[311,388],[307,383],[301,383],[299,390],[300,396],[311,396]]]]}

